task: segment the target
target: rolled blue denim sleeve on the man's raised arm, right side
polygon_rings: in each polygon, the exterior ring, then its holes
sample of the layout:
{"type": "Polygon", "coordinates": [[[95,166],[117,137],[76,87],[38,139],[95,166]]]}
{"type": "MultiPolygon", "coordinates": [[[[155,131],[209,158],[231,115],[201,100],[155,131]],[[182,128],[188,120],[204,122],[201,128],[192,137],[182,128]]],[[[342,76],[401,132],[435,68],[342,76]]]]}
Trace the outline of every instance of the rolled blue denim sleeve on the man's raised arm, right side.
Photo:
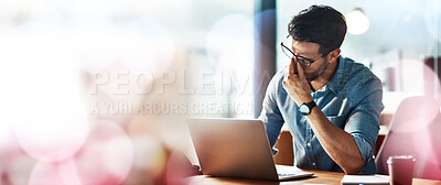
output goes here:
{"type": "Polygon", "coordinates": [[[354,138],[365,164],[368,164],[373,160],[384,108],[381,83],[378,78],[365,79],[358,83],[352,92],[355,96],[352,98],[353,108],[345,131],[354,138]]]}

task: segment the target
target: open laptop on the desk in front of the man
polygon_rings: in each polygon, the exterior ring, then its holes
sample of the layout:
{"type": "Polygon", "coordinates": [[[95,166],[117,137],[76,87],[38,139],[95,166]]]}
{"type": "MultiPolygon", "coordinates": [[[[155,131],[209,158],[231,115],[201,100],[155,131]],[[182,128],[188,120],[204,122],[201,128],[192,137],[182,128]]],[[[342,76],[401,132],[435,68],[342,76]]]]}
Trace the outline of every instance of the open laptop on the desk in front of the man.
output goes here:
{"type": "Polygon", "coordinates": [[[257,119],[189,119],[204,175],[284,181],[314,175],[275,165],[263,122],[257,119]]]}

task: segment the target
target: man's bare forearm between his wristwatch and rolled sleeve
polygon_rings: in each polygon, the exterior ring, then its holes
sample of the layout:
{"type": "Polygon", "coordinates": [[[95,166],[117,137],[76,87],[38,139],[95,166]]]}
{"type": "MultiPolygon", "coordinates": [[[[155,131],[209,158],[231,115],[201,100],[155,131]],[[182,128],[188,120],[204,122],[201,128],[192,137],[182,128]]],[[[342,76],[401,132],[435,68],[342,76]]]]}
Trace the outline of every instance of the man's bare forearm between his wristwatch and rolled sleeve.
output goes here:
{"type": "Polygon", "coordinates": [[[365,162],[354,138],[327,120],[319,107],[314,107],[306,119],[323,149],[346,174],[356,174],[364,167],[365,162]]]}

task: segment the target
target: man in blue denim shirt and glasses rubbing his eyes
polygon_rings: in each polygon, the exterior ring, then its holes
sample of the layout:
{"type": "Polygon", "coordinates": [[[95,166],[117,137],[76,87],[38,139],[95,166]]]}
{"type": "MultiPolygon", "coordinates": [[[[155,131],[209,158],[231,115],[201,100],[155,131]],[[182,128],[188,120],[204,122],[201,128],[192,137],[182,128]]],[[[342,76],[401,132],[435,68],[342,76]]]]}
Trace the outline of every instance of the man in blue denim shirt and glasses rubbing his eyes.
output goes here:
{"type": "Polygon", "coordinates": [[[295,166],[376,173],[381,81],[364,65],[340,56],[346,34],[343,14],[312,6],[292,18],[288,32],[281,47],[291,63],[269,83],[259,117],[271,149],[286,123],[295,166]]]}

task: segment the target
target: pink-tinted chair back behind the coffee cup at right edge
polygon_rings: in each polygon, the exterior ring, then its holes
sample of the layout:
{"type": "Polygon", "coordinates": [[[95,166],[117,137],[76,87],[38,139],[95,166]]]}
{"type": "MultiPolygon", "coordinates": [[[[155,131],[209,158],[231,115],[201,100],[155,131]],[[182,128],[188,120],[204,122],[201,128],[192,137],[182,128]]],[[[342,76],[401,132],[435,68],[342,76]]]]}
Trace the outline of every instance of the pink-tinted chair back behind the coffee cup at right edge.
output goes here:
{"type": "Polygon", "coordinates": [[[391,155],[413,155],[413,177],[441,179],[441,115],[434,98],[415,96],[400,102],[376,159],[378,173],[388,174],[391,155]]]}

